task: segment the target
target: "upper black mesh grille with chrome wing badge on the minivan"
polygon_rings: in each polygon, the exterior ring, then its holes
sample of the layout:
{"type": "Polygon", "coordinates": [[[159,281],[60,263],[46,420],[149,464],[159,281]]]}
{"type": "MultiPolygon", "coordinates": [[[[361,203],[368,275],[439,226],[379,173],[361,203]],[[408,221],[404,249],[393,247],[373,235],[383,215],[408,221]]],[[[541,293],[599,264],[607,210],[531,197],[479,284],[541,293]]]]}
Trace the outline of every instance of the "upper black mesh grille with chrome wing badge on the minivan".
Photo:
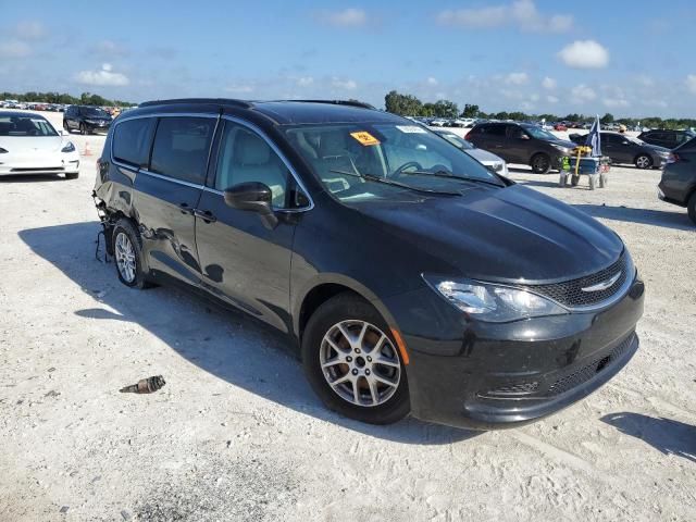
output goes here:
{"type": "Polygon", "coordinates": [[[630,268],[626,256],[622,254],[619,260],[611,266],[604,269],[593,275],[587,275],[579,279],[567,281],[563,283],[552,283],[549,285],[530,285],[530,290],[554,299],[566,307],[592,307],[604,302],[613,297],[617,291],[626,282],[630,268]],[[604,283],[616,276],[621,271],[620,277],[608,288],[584,291],[583,288],[592,287],[599,283],[604,283]]]}

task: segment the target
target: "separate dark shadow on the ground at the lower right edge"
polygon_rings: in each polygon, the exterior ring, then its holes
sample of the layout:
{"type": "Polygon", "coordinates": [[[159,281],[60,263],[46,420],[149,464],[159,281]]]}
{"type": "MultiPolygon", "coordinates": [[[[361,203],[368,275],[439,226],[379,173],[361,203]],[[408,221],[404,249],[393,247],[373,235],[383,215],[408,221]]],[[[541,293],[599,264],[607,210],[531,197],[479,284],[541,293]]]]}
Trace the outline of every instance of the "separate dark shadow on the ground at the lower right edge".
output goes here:
{"type": "Polygon", "coordinates": [[[696,426],[641,413],[611,413],[601,418],[621,433],[639,438],[663,455],[696,462],[696,426]]]}

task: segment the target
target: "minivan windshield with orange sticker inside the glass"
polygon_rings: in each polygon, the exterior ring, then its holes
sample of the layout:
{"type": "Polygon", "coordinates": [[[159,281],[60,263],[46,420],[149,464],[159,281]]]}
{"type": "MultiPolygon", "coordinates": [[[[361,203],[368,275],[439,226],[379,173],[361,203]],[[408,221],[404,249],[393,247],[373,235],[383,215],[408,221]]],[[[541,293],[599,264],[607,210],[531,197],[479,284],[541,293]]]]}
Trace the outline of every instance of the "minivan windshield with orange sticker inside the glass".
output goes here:
{"type": "Polygon", "coordinates": [[[459,194],[471,181],[505,186],[476,160],[421,125],[299,125],[288,127],[286,135],[340,200],[389,199],[408,187],[459,194]],[[398,184],[371,183],[370,177],[398,184]]]}

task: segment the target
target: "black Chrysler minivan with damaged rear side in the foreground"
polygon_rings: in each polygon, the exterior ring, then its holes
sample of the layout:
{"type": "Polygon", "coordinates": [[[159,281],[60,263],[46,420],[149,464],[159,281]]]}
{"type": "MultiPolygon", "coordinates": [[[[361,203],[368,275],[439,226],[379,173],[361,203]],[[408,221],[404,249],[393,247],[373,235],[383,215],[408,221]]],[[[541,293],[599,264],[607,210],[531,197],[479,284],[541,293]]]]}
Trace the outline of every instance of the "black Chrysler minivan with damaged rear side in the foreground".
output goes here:
{"type": "Polygon", "coordinates": [[[531,422],[638,347],[619,236],[358,102],[144,103],[95,197],[122,283],[184,282],[286,333],[360,421],[531,422]]]}

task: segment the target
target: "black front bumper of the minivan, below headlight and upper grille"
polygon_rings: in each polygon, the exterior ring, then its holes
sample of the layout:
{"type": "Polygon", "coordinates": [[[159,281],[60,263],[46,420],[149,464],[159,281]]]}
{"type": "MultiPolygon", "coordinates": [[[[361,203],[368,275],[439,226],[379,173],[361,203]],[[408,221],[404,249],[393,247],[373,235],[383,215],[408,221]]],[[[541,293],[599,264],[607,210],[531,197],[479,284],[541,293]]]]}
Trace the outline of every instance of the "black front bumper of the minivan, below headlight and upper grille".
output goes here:
{"type": "Polygon", "coordinates": [[[604,310],[497,324],[468,321],[430,288],[388,299],[399,325],[412,325],[402,326],[412,414],[492,430],[534,422],[581,400],[637,350],[644,291],[636,277],[604,310]]]}

